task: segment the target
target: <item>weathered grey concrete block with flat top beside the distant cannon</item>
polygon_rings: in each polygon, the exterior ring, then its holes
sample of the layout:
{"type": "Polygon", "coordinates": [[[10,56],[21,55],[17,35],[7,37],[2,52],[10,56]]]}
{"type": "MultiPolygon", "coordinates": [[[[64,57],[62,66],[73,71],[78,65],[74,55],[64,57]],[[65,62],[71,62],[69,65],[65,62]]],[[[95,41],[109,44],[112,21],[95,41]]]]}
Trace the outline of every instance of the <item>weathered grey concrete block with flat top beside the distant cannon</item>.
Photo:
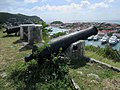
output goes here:
{"type": "Polygon", "coordinates": [[[20,25],[20,39],[27,41],[29,44],[41,42],[42,25],[37,24],[20,25]]]}

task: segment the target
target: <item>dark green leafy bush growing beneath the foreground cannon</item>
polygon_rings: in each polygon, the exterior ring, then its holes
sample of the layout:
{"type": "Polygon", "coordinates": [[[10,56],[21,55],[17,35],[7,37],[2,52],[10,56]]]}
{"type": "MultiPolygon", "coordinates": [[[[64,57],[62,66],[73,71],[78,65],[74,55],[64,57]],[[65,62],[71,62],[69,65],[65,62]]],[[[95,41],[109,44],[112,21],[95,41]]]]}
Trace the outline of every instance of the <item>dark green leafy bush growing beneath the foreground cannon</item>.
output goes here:
{"type": "Polygon", "coordinates": [[[67,58],[53,56],[53,59],[46,59],[42,64],[19,64],[10,79],[13,79],[15,89],[20,90],[71,90],[67,63],[67,58]]]}

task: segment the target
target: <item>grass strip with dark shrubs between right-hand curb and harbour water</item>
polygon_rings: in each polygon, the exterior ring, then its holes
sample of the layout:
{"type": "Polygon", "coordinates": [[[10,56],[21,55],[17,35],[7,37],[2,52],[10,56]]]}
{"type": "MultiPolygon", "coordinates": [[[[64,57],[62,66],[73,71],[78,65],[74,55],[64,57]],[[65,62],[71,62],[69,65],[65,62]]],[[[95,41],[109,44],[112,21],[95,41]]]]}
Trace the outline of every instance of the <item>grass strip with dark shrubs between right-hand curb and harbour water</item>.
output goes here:
{"type": "Polygon", "coordinates": [[[113,50],[110,47],[99,48],[86,46],[85,55],[120,68],[120,52],[113,50]]]}

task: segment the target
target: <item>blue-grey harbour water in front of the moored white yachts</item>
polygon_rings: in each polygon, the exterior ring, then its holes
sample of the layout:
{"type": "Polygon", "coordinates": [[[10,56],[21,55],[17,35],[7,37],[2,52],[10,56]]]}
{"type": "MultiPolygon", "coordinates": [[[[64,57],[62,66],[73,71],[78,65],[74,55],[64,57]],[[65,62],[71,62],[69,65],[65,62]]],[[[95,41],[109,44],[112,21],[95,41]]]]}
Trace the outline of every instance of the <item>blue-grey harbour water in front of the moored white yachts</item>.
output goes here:
{"type": "MultiPolygon", "coordinates": [[[[88,40],[85,40],[85,45],[86,46],[89,46],[89,45],[92,45],[92,46],[100,46],[100,47],[102,47],[102,48],[104,48],[106,45],[108,45],[108,44],[103,44],[103,45],[101,45],[101,42],[100,42],[100,40],[98,40],[98,41],[88,41],[88,40]]],[[[119,43],[117,43],[116,45],[114,45],[114,46],[111,46],[113,49],[115,49],[115,50],[119,50],[120,51],[120,42],[119,43]]]]}

